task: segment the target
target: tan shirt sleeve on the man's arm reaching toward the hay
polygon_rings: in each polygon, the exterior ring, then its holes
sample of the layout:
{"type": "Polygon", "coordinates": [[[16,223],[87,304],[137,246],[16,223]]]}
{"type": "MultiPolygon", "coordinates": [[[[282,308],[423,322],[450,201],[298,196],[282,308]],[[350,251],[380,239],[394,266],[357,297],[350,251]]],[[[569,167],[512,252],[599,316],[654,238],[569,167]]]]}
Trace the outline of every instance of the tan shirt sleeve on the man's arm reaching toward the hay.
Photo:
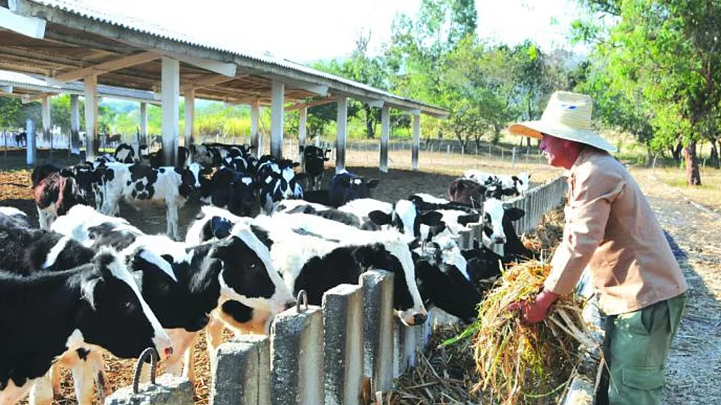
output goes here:
{"type": "Polygon", "coordinates": [[[611,205],[626,185],[622,174],[609,169],[586,162],[573,174],[563,240],[551,259],[547,290],[572,293],[601,243],[611,205]]]}

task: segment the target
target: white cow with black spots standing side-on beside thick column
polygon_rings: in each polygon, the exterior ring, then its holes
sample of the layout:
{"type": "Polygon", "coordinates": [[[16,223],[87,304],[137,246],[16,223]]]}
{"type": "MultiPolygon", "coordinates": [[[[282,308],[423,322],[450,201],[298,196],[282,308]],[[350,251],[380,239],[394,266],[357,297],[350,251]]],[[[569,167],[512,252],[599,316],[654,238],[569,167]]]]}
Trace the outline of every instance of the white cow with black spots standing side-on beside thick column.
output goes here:
{"type": "MultiPolygon", "coordinates": [[[[107,164],[104,184],[99,191],[101,212],[117,215],[118,203],[142,200],[164,201],[167,207],[167,234],[180,239],[178,209],[185,205],[190,193],[200,188],[200,165],[192,163],[187,169],[164,166],[153,169],[143,164],[107,164]]],[[[97,197],[96,197],[97,198],[97,197]]]]}

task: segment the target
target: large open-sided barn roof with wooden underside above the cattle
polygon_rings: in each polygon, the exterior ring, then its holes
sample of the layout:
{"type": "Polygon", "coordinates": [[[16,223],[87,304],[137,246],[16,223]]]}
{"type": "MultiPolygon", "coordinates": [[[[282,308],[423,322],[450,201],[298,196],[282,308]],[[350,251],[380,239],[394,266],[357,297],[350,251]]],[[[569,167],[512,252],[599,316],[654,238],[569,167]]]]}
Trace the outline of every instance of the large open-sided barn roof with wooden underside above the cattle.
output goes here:
{"type": "Polygon", "coordinates": [[[181,89],[194,89],[198,98],[270,104],[271,82],[280,81],[286,84],[286,102],[345,96],[435,117],[448,115],[439,107],[299,63],[208,43],[80,1],[0,0],[0,6],[3,3],[15,14],[43,19],[46,25],[42,38],[30,38],[0,27],[0,68],[63,77],[89,66],[136,58],[142,63],[100,72],[98,82],[157,92],[160,58],[169,56],[181,62],[181,89]],[[155,55],[148,58],[148,53],[155,55]],[[227,69],[230,66],[232,69],[227,69]]]}

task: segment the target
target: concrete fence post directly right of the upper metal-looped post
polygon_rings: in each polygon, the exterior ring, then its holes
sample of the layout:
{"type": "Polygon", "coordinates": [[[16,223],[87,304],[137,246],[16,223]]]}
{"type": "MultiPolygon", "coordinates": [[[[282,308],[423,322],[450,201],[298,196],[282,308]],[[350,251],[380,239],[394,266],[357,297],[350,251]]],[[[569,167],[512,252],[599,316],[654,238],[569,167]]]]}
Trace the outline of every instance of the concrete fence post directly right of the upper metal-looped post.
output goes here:
{"type": "Polygon", "coordinates": [[[363,380],[363,294],[341,284],[323,295],[325,404],[356,405],[363,380]]]}

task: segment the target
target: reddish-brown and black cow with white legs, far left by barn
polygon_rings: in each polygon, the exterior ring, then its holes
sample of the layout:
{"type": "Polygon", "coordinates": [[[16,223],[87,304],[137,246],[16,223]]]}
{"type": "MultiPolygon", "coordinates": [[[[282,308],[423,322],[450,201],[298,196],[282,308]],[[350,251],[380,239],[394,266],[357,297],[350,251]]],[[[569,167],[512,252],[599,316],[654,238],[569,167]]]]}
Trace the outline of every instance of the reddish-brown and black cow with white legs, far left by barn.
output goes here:
{"type": "Polygon", "coordinates": [[[32,194],[41,229],[49,229],[58,216],[65,215],[74,205],[87,203],[74,177],[52,170],[51,166],[38,166],[32,173],[32,194]]]}

